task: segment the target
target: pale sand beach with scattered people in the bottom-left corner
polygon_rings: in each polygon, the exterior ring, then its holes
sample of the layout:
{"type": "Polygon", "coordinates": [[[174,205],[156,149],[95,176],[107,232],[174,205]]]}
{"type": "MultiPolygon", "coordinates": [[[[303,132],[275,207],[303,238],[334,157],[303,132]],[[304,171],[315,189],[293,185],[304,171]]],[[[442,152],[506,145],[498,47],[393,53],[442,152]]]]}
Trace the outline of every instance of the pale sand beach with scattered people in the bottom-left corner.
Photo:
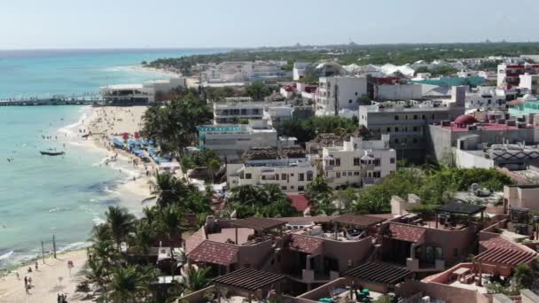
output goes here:
{"type": "MultiPolygon", "coordinates": [[[[31,265],[32,273],[27,273],[28,266],[18,268],[7,276],[0,277],[0,303],[16,302],[56,302],[59,291],[66,293],[69,302],[83,302],[84,293],[75,292],[77,284],[84,280],[81,272],[86,261],[86,251],[75,251],[59,254],[58,259],[47,258],[45,264],[40,259],[39,269],[36,271],[34,264],[31,265]],[[74,268],[69,274],[67,260],[72,260],[74,268]],[[15,273],[19,273],[17,279],[15,273]],[[24,289],[24,277],[32,278],[33,287],[26,293],[24,289]],[[62,281],[59,282],[59,277],[62,281]]],[[[88,300],[84,300],[88,302],[88,300]]]]}

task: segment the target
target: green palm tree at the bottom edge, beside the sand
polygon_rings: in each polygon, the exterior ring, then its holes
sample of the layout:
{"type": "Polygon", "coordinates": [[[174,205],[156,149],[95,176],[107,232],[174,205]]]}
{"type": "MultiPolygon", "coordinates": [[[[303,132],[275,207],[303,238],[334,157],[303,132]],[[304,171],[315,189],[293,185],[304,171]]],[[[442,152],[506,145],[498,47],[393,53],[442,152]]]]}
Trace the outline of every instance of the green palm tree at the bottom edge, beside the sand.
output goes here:
{"type": "Polygon", "coordinates": [[[156,277],[153,268],[132,265],[114,268],[110,298],[118,303],[137,302],[137,298],[145,295],[156,277]]]}

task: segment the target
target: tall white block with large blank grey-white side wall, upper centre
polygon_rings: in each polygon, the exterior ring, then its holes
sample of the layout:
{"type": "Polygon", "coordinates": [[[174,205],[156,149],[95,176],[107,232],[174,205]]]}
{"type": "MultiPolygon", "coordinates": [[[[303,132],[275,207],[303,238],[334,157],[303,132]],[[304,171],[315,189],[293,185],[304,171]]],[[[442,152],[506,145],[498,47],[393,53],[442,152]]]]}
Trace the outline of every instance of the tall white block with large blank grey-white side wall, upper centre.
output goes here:
{"type": "Polygon", "coordinates": [[[356,111],[357,98],[367,93],[366,76],[320,77],[316,97],[316,115],[337,114],[340,110],[356,111]]]}

